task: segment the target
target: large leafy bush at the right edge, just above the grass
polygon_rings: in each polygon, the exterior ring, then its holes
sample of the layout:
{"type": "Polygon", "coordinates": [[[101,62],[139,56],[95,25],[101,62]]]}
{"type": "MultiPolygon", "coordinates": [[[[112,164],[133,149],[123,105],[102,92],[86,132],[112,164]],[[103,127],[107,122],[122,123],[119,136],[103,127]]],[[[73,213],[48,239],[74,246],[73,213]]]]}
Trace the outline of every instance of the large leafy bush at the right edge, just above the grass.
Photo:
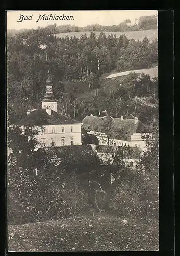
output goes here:
{"type": "Polygon", "coordinates": [[[158,219],[158,177],[134,173],[132,179],[132,172],[121,177],[115,187],[110,211],[122,218],[158,219]]]}

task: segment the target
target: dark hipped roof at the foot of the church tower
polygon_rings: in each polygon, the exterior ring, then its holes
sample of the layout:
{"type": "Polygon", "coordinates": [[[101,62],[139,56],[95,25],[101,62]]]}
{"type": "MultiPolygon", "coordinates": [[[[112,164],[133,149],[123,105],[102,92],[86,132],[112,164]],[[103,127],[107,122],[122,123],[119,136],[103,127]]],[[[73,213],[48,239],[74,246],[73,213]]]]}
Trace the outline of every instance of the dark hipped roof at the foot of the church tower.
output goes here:
{"type": "Polygon", "coordinates": [[[42,126],[42,125],[55,125],[55,124],[74,124],[80,123],[72,118],[64,116],[58,112],[51,111],[49,115],[45,109],[39,109],[32,111],[29,115],[25,116],[21,120],[17,121],[17,125],[30,125],[30,126],[42,126]]]}

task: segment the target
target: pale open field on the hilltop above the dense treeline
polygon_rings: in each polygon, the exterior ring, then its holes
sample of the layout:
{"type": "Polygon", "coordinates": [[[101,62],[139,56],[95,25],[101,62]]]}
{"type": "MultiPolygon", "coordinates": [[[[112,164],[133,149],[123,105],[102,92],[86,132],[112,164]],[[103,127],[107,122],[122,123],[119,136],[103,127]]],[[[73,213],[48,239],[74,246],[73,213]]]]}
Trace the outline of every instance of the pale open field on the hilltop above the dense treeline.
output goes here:
{"type": "MultiPolygon", "coordinates": [[[[94,31],[96,33],[97,36],[99,36],[100,31],[94,31]]],[[[116,34],[117,38],[119,38],[120,35],[126,35],[127,38],[129,39],[134,39],[134,40],[139,40],[142,41],[144,39],[144,37],[147,37],[149,39],[149,41],[153,41],[158,37],[158,33],[156,29],[152,29],[152,30],[140,30],[140,31],[117,31],[117,32],[107,32],[105,31],[106,36],[108,36],[109,34],[116,34]]],[[[66,37],[67,35],[69,37],[74,37],[76,36],[77,38],[80,38],[81,35],[87,34],[87,36],[89,37],[91,32],[90,31],[83,31],[83,32],[69,32],[69,33],[59,33],[56,34],[57,38],[63,38],[66,37]]]]}

